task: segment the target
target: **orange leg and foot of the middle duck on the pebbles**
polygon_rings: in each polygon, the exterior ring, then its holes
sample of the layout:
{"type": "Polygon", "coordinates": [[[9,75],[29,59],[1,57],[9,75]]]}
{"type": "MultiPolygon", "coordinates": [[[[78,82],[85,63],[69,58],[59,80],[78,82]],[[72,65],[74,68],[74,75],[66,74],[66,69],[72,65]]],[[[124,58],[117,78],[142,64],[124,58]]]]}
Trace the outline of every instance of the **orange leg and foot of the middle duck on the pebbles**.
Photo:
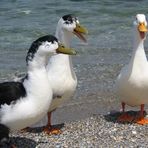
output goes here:
{"type": "Polygon", "coordinates": [[[57,134],[61,134],[61,130],[58,128],[55,128],[51,125],[51,114],[53,111],[48,112],[48,123],[46,125],[46,127],[44,128],[44,132],[48,135],[57,135],[57,134]]]}

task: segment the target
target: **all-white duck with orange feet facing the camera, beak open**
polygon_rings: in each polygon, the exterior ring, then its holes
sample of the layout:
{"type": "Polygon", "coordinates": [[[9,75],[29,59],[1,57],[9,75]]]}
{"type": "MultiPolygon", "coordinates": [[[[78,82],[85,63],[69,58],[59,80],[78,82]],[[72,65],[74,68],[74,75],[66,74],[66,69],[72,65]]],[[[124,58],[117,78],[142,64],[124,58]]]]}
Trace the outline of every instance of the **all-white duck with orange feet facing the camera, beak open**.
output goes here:
{"type": "Polygon", "coordinates": [[[144,14],[137,14],[134,21],[134,44],[129,63],[122,68],[116,80],[116,90],[122,104],[120,122],[135,122],[148,124],[144,117],[144,106],[148,104],[148,61],[144,50],[146,39],[147,21],[144,14]],[[136,116],[125,112],[125,105],[140,106],[136,116]]]}

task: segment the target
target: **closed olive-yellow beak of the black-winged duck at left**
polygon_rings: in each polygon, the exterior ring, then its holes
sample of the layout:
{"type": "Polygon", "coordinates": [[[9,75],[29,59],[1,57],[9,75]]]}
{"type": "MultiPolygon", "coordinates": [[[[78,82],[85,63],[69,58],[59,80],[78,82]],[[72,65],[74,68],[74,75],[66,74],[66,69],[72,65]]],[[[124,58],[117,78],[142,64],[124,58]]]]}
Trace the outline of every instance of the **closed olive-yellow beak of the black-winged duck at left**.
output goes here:
{"type": "Polygon", "coordinates": [[[59,43],[59,47],[56,50],[57,53],[69,54],[69,55],[76,55],[77,52],[72,48],[66,48],[64,45],[59,43]]]}

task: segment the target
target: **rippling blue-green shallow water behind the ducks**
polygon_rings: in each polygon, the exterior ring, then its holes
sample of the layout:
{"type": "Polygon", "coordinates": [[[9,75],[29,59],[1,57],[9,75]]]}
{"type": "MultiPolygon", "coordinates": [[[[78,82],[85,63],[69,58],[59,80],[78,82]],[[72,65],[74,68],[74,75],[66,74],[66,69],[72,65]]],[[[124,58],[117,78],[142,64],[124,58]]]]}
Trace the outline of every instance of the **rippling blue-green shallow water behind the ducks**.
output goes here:
{"type": "Polygon", "coordinates": [[[57,114],[68,112],[67,120],[69,116],[77,119],[119,109],[114,81],[130,59],[135,15],[148,14],[146,0],[1,0],[0,80],[25,73],[25,56],[32,41],[54,34],[59,18],[68,13],[78,16],[88,28],[88,45],[77,38],[72,41],[71,46],[79,51],[73,57],[78,87],[73,99],[57,114]]]}

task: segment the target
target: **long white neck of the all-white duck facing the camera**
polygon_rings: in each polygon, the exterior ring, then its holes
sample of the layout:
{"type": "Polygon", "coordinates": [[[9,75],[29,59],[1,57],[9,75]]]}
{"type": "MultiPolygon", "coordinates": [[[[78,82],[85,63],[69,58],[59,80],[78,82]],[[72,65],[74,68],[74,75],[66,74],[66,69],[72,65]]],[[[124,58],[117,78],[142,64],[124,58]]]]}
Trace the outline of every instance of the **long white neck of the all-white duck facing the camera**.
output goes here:
{"type": "Polygon", "coordinates": [[[130,65],[141,66],[141,64],[147,63],[147,58],[144,51],[144,39],[141,39],[139,32],[135,31],[135,39],[133,46],[133,53],[130,65]]]}

